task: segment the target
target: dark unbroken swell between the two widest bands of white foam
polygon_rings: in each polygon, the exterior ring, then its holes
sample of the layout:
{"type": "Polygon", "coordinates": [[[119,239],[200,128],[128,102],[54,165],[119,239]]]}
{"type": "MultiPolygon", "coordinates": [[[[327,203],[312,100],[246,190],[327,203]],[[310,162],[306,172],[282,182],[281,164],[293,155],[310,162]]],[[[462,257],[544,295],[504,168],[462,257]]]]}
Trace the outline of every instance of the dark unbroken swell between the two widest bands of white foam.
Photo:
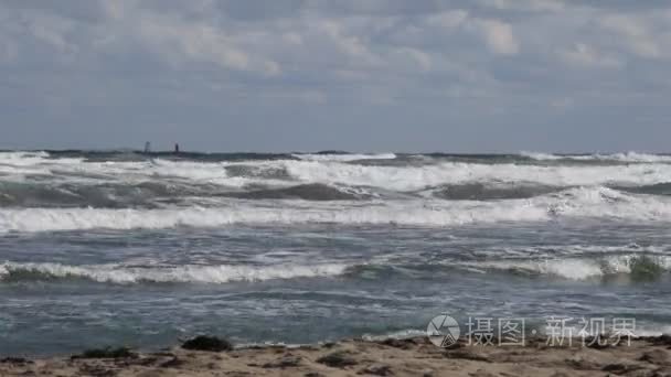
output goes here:
{"type": "MultiPolygon", "coordinates": [[[[350,186],[339,183],[254,183],[241,177],[238,185],[183,181],[98,182],[2,182],[0,207],[12,208],[135,208],[150,209],[179,205],[225,206],[230,200],[303,200],[303,201],[372,201],[372,200],[443,200],[500,201],[534,198],[575,188],[532,182],[475,182],[444,184],[418,191],[395,192],[383,187],[350,186]],[[247,182],[247,183],[244,183],[247,182]]],[[[622,194],[671,195],[671,183],[643,186],[613,185],[622,194]]]]}

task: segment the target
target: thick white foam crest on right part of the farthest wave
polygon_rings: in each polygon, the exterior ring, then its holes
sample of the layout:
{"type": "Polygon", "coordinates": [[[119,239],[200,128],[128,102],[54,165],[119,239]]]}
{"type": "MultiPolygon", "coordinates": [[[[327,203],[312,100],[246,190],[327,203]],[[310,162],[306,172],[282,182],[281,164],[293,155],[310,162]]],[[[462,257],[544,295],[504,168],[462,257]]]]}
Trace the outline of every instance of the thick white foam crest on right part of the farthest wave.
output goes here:
{"type": "Polygon", "coordinates": [[[548,186],[649,185],[671,182],[671,164],[629,166],[539,166],[446,162],[425,166],[374,166],[338,162],[280,161],[287,172],[302,182],[375,186],[415,191],[443,184],[537,183],[548,186]]]}

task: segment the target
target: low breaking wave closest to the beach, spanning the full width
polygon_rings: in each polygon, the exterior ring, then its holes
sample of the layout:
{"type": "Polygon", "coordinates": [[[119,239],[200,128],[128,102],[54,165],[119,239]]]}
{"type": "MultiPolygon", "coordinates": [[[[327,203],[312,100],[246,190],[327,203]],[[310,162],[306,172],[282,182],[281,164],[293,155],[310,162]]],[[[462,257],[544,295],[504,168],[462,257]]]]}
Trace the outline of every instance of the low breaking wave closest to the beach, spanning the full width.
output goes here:
{"type": "Polygon", "coordinates": [[[626,277],[636,280],[658,279],[671,272],[671,257],[647,254],[604,256],[603,258],[553,258],[543,260],[499,260],[481,262],[449,261],[425,263],[333,263],[321,265],[187,265],[125,266],[63,265],[55,262],[0,263],[0,281],[46,281],[86,279],[103,283],[227,283],[275,279],[350,277],[366,280],[393,278],[432,278],[450,276],[455,269],[467,273],[512,273],[520,277],[554,277],[568,280],[593,280],[626,277]],[[413,272],[416,271],[416,272],[413,272]],[[426,273],[430,272],[430,273],[426,273]]]}

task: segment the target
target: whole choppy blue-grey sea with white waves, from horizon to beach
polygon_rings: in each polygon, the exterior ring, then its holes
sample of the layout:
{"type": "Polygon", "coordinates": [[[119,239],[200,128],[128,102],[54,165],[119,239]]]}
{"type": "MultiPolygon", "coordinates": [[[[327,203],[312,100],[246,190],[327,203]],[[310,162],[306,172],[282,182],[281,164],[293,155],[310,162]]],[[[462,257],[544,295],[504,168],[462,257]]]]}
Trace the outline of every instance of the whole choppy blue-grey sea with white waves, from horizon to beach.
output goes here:
{"type": "Polygon", "coordinates": [[[671,155],[0,152],[0,354],[671,330],[671,155]]]}

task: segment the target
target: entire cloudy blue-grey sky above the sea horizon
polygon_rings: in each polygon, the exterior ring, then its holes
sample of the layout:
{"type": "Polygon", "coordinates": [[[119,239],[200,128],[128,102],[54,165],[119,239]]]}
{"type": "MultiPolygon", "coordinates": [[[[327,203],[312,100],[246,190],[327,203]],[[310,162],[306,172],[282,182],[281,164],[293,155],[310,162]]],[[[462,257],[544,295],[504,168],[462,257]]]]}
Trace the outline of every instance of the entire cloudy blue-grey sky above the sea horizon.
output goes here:
{"type": "Polygon", "coordinates": [[[2,0],[0,148],[671,152],[671,2],[2,0]]]}

